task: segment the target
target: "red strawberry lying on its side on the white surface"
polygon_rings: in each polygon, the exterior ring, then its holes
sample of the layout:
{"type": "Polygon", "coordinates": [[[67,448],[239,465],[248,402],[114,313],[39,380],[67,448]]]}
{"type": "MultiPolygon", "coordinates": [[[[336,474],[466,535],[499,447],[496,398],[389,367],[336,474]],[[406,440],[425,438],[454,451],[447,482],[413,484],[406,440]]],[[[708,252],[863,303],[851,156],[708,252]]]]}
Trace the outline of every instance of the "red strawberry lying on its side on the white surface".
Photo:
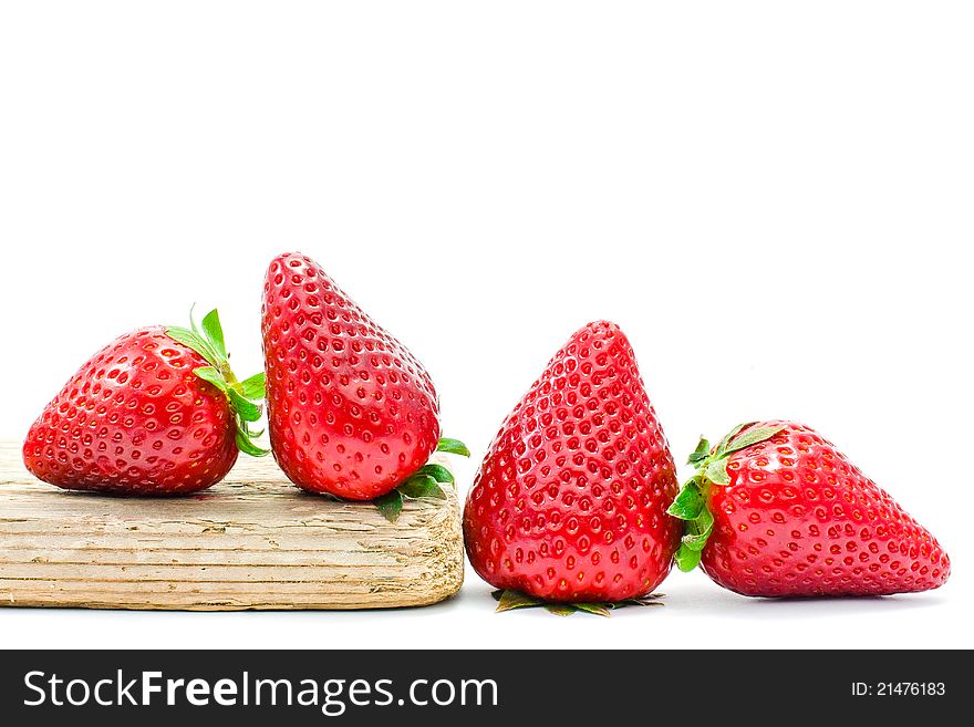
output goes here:
{"type": "Polygon", "coordinates": [[[691,455],[670,509],[686,520],[676,561],[744,595],[888,595],[943,585],[936,539],[818,433],[742,425],[691,455]]]}

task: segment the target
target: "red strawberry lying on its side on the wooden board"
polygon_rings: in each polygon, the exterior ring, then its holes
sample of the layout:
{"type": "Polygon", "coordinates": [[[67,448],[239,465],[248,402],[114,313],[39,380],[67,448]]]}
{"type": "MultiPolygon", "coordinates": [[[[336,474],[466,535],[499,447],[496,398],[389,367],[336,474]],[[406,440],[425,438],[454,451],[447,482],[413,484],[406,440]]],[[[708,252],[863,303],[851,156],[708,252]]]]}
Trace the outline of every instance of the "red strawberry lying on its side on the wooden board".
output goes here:
{"type": "MultiPolygon", "coordinates": [[[[190,316],[191,318],[191,316],[190,316]]],[[[217,311],[203,331],[152,326],[99,351],[34,422],[23,461],[39,479],[114,495],[195,492],[220,481],[260,418],[263,374],[238,382],[217,311]]]]}

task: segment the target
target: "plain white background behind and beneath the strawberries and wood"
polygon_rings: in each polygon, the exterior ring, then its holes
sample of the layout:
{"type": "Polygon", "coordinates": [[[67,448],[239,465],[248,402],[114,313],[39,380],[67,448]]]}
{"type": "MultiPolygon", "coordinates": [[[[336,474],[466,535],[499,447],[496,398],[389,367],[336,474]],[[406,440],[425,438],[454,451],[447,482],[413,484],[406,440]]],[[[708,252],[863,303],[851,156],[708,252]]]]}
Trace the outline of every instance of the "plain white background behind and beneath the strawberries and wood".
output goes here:
{"type": "MultiPolygon", "coordinates": [[[[495,615],[0,610],[6,646],[974,646],[974,10],[3,2],[0,436],[96,349],[315,258],[479,456],[567,336],[629,334],[674,454],[787,417],[952,555],[940,591],[495,615]]],[[[200,309],[205,310],[205,309],[200,309]]],[[[469,482],[475,464],[466,467],[469,482]]]]}

